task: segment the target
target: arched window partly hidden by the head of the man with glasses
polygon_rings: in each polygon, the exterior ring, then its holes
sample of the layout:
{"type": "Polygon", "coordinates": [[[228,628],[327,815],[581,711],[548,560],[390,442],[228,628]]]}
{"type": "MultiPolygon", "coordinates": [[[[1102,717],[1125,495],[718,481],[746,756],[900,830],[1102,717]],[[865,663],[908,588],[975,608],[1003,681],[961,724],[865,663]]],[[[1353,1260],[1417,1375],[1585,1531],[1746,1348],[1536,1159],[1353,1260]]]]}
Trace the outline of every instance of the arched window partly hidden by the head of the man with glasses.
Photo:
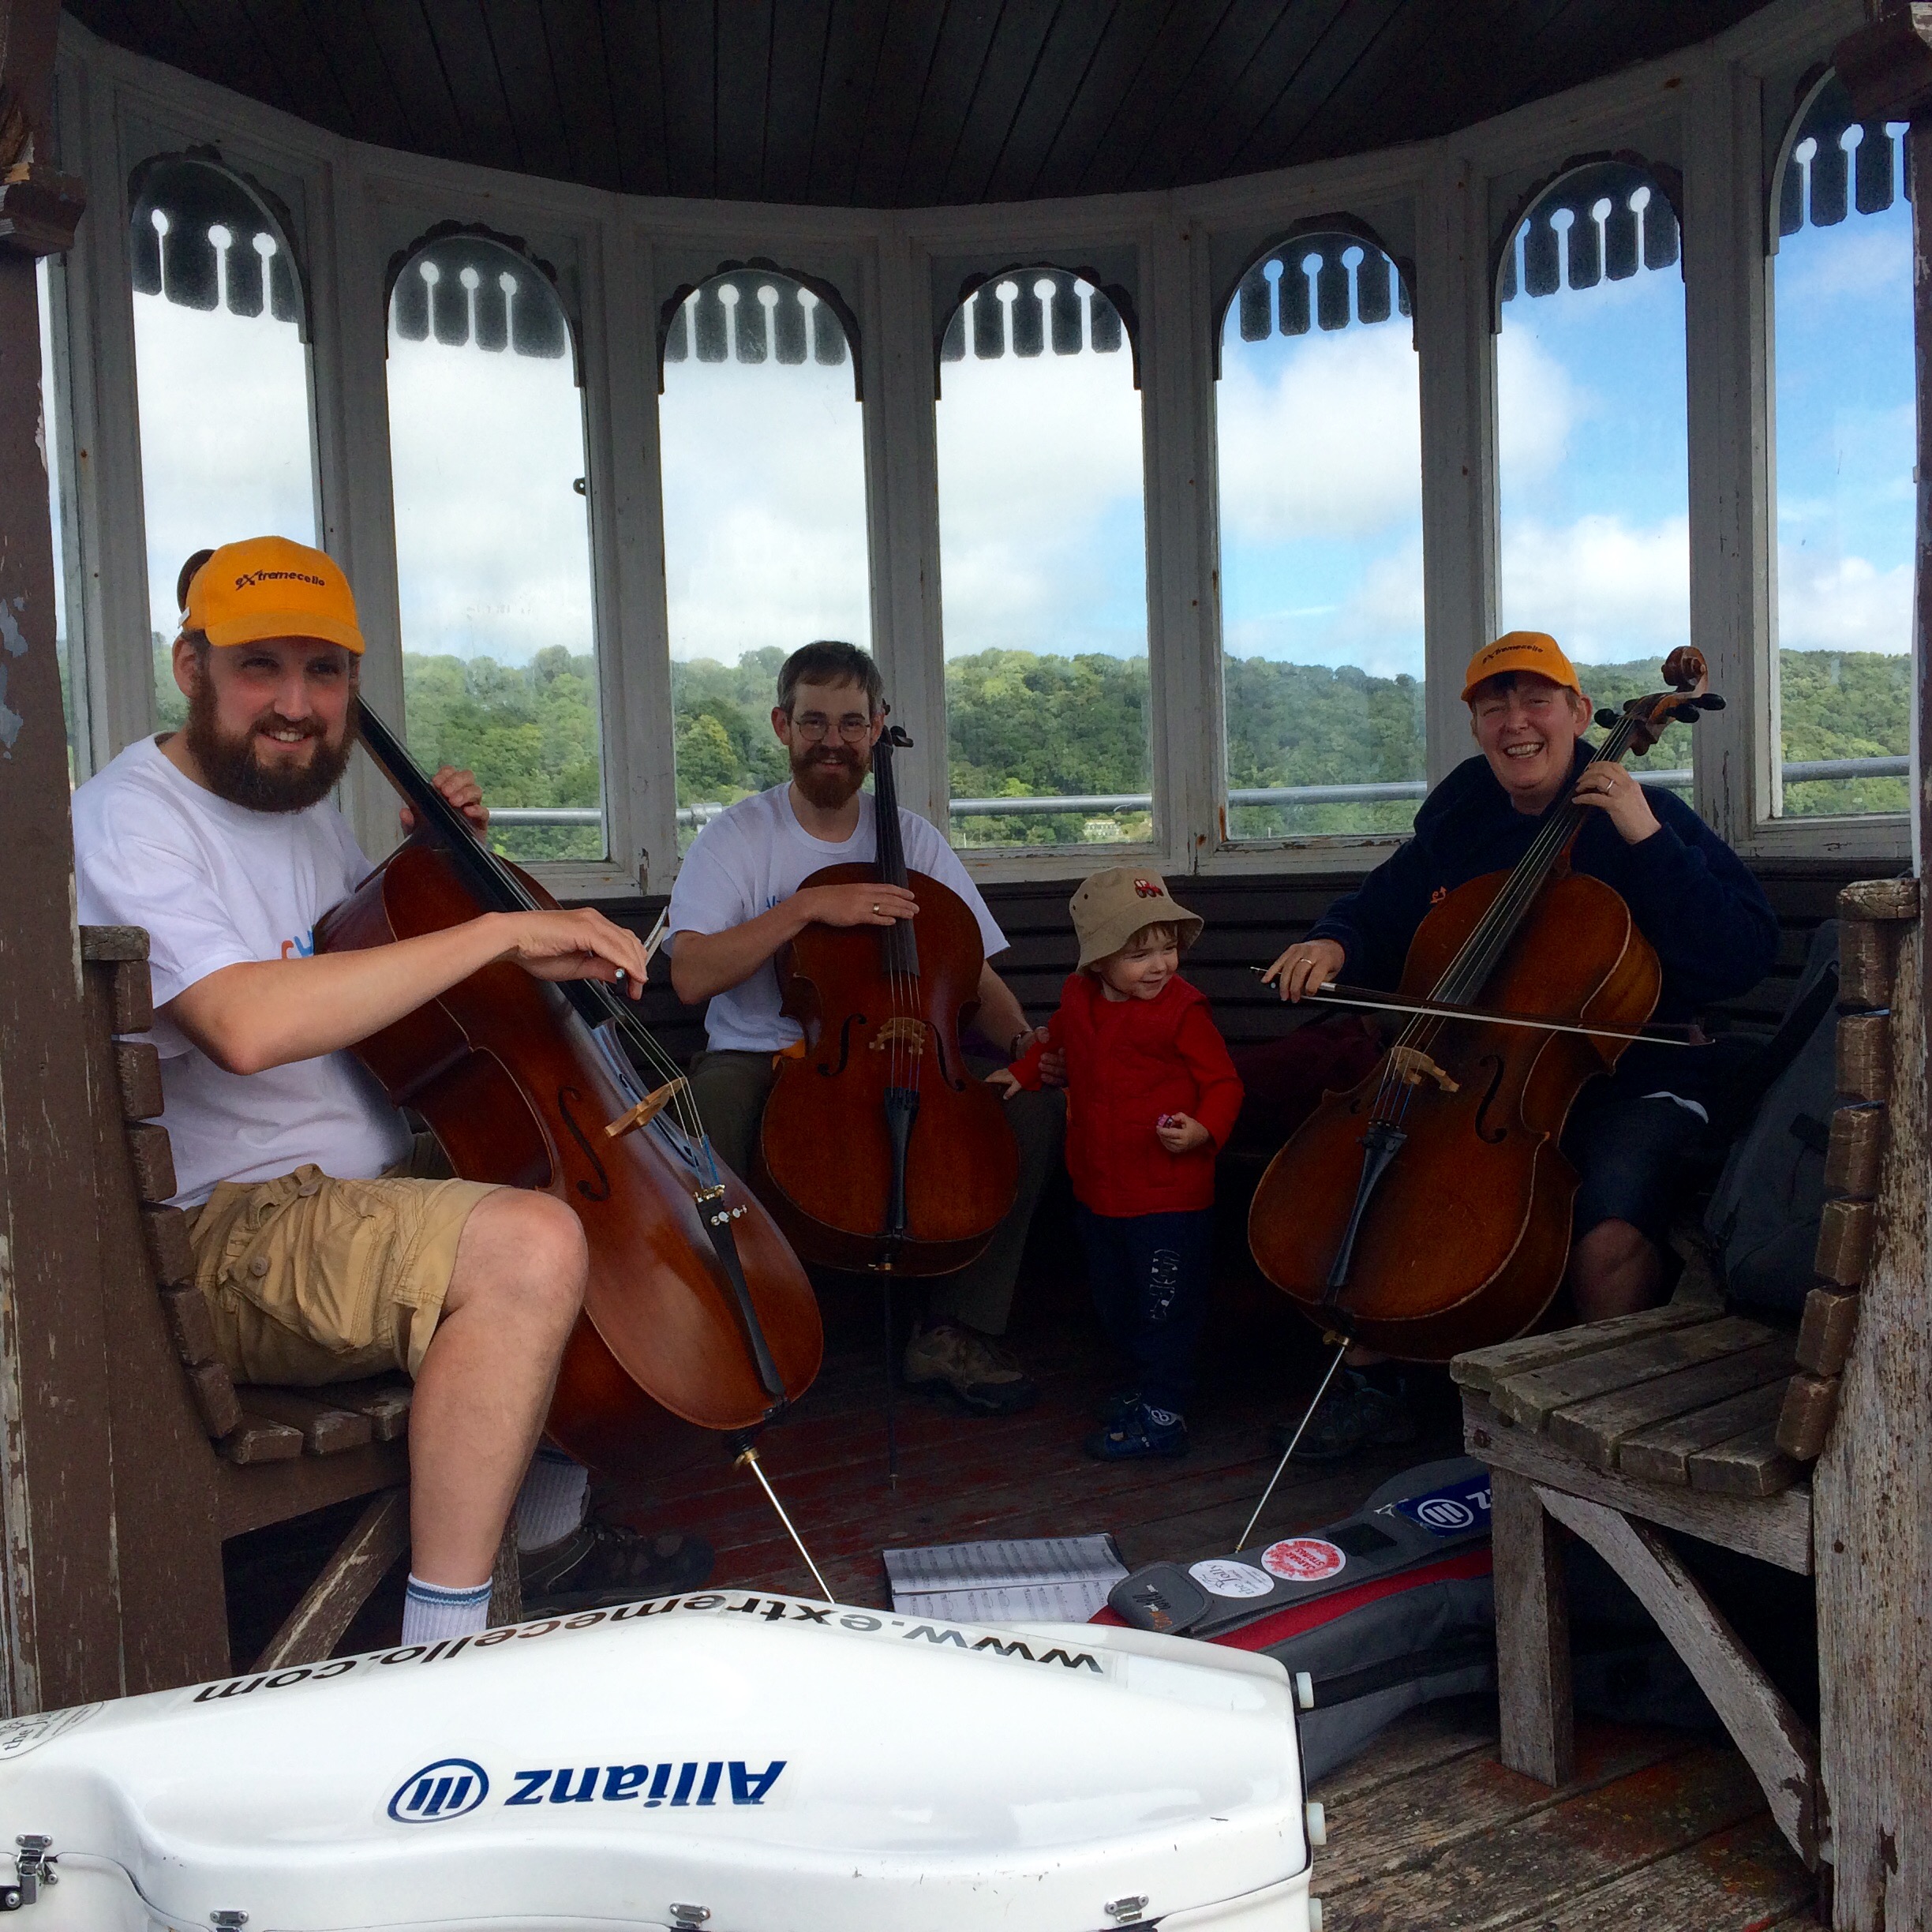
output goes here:
{"type": "Polygon", "coordinates": [[[813,638],[871,643],[856,325],[769,267],[680,290],[657,419],[682,852],[786,779],[779,665],[813,638]]]}

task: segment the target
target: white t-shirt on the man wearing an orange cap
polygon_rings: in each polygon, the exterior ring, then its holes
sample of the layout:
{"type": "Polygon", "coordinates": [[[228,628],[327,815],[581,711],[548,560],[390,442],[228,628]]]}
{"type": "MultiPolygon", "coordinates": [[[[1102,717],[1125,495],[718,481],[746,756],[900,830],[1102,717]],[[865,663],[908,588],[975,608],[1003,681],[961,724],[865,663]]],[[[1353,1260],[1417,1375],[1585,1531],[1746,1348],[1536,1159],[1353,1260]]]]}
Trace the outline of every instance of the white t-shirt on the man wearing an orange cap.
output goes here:
{"type": "MultiPolygon", "coordinates": [[[[164,1007],[224,966],[313,954],[315,922],[369,877],[369,860],[334,806],[232,806],[137,738],[73,794],[73,869],[83,925],[147,927],[164,1007]]],[[[160,1012],[151,1037],[176,1206],[311,1161],[367,1180],[410,1150],[402,1115],[350,1053],[230,1074],[160,1012]]]]}

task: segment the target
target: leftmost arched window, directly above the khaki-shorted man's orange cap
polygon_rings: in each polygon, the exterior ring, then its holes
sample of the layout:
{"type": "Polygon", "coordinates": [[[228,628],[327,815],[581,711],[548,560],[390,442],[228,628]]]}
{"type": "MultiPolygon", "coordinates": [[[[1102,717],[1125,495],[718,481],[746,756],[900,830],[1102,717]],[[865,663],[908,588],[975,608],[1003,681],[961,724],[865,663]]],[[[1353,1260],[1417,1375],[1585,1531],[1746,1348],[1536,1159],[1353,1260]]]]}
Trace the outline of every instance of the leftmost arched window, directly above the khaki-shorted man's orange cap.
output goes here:
{"type": "Polygon", "coordinates": [[[164,155],[129,199],[155,707],[172,728],[184,560],[238,537],[315,541],[307,315],[288,224],[255,184],[164,155]]]}

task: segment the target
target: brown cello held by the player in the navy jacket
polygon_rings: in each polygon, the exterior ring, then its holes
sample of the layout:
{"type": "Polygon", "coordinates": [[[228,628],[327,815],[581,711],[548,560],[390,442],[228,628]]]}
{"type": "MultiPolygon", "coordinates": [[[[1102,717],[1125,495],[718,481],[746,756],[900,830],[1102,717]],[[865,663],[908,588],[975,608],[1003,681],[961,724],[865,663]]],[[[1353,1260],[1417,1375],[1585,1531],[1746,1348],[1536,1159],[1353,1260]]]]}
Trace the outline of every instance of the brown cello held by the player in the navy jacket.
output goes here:
{"type": "MultiPolygon", "coordinates": [[[[1690,647],[1663,678],[1598,713],[1592,761],[1723,703],[1690,647]]],[[[1337,1337],[1447,1362],[1524,1333],[1563,1283],[1578,1177],[1557,1142],[1582,1084],[1650,1037],[1662,983],[1623,898],[1569,869],[1584,813],[1565,792],[1511,871],[1430,908],[1383,1003],[1408,1014],[1401,1036],[1358,1086],[1321,1095],[1262,1177],[1254,1260],[1337,1337]]]]}

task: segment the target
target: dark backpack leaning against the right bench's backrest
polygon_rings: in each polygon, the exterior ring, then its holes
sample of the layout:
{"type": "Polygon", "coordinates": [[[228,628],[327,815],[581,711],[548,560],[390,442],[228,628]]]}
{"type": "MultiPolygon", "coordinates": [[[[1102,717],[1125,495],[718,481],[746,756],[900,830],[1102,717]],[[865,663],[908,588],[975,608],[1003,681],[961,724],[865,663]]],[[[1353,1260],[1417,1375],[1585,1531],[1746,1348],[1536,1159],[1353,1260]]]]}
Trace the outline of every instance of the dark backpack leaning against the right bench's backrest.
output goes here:
{"type": "Polygon", "coordinates": [[[1797,1314],[1816,1273],[1824,1153],[1837,1099],[1837,920],[1804,954],[1783,1024],[1750,1066],[1745,1128],[1704,1209],[1733,1302],[1797,1314]],[[1756,1105],[1750,1107],[1750,1099],[1756,1105]]]}

